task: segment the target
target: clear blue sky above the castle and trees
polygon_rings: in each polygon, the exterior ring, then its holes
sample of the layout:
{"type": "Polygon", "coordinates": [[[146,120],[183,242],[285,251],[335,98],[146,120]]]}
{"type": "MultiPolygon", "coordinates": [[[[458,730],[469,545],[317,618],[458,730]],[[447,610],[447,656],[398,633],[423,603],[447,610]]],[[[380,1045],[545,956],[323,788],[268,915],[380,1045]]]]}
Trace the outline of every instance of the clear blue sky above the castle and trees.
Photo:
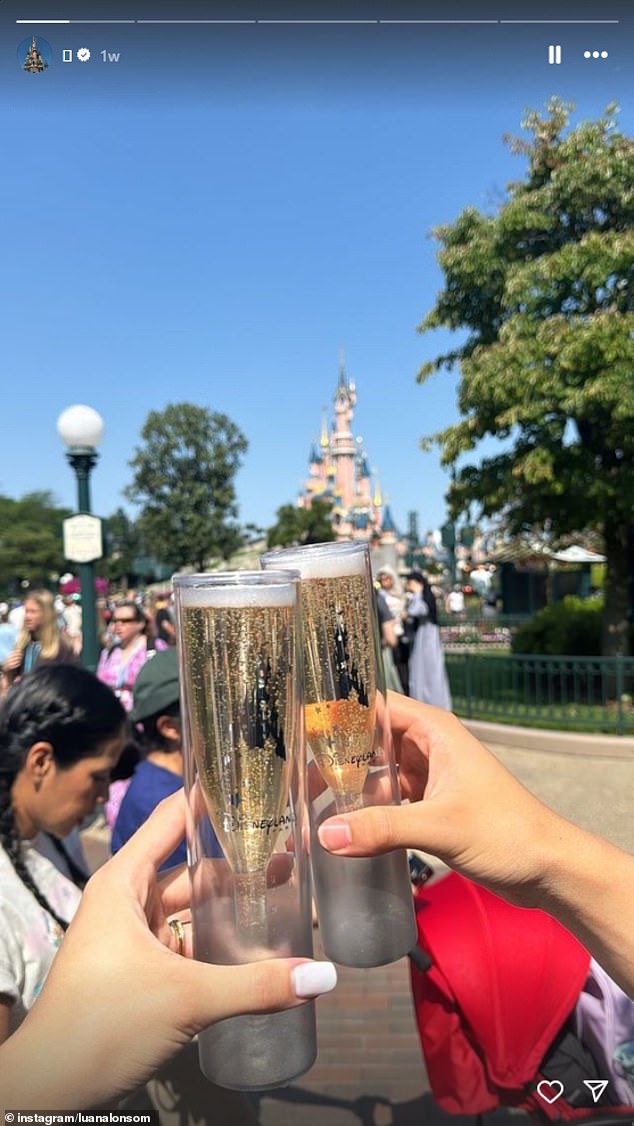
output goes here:
{"type": "MultiPolygon", "coordinates": [[[[50,38],[54,52],[66,43],[50,38]]],[[[77,50],[77,33],[69,42],[77,50]]],[[[631,65],[566,71],[539,45],[514,79],[463,46],[453,71],[400,81],[392,51],[374,84],[352,53],[346,82],[338,60],[310,82],[280,68],[264,92],[233,75],[227,97],[217,74],[187,66],[159,82],[128,65],[110,88],[77,63],[23,75],[14,48],[0,492],[51,489],[73,504],[55,422],[87,402],[106,422],[92,500],[107,516],[148,411],[188,401],[247,436],[240,519],[266,527],[306,474],[345,348],[355,430],[398,525],[410,510],[421,530],[444,520],[447,474],[419,440],[456,420],[456,378],[416,382],[447,343],[417,333],[441,284],[429,232],[493,206],[521,175],[502,134],[551,93],[575,100],[577,116],[616,98],[632,132],[631,65]]]]}

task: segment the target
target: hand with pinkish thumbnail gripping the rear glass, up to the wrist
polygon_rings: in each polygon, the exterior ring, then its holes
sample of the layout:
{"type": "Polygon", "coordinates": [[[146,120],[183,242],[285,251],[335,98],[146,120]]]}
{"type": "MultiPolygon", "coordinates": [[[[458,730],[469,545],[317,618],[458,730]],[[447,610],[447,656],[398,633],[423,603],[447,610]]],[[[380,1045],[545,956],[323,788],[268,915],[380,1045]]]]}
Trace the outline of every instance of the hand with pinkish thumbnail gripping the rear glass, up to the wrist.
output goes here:
{"type": "Polygon", "coordinates": [[[401,792],[409,804],[324,821],[324,848],[374,856],[420,848],[511,902],[537,905],[564,824],[449,712],[389,692],[401,792]]]}

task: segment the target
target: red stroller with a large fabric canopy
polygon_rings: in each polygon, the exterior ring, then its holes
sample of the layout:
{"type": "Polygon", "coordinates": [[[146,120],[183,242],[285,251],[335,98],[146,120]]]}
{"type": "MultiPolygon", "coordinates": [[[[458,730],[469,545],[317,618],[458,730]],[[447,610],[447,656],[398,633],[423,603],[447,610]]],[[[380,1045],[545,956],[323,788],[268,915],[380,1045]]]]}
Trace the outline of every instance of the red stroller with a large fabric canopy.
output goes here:
{"type": "Polygon", "coordinates": [[[574,1033],[590,956],[569,931],[455,873],[418,887],[416,910],[416,1017],[444,1110],[480,1117],[516,1107],[543,1123],[632,1121],[631,1106],[615,1106],[614,1096],[610,1105],[607,1089],[595,1105],[584,1083],[607,1076],[574,1033]]]}

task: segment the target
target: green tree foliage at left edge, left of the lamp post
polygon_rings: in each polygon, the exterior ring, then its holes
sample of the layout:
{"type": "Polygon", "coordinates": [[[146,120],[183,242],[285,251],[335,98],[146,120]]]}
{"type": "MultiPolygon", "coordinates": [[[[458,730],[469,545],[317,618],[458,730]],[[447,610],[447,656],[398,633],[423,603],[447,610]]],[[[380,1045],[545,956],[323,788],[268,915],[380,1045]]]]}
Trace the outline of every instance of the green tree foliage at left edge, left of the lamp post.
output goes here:
{"type": "Polygon", "coordinates": [[[0,497],[0,589],[18,593],[20,583],[50,587],[65,570],[62,522],[71,516],[51,492],[0,497]]]}

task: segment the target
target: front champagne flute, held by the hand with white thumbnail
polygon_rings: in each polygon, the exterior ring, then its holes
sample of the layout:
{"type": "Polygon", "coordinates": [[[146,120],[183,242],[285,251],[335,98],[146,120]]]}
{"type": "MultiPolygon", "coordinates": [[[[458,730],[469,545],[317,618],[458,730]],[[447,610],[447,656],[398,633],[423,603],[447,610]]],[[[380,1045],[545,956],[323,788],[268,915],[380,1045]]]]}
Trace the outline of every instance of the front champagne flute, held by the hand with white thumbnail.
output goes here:
{"type": "MultiPolygon", "coordinates": [[[[298,577],[212,572],[173,586],[195,956],[312,957],[298,577]]],[[[314,1004],[220,1021],[199,1053],[221,1085],[278,1087],[314,1062],[314,1004]]]]}

